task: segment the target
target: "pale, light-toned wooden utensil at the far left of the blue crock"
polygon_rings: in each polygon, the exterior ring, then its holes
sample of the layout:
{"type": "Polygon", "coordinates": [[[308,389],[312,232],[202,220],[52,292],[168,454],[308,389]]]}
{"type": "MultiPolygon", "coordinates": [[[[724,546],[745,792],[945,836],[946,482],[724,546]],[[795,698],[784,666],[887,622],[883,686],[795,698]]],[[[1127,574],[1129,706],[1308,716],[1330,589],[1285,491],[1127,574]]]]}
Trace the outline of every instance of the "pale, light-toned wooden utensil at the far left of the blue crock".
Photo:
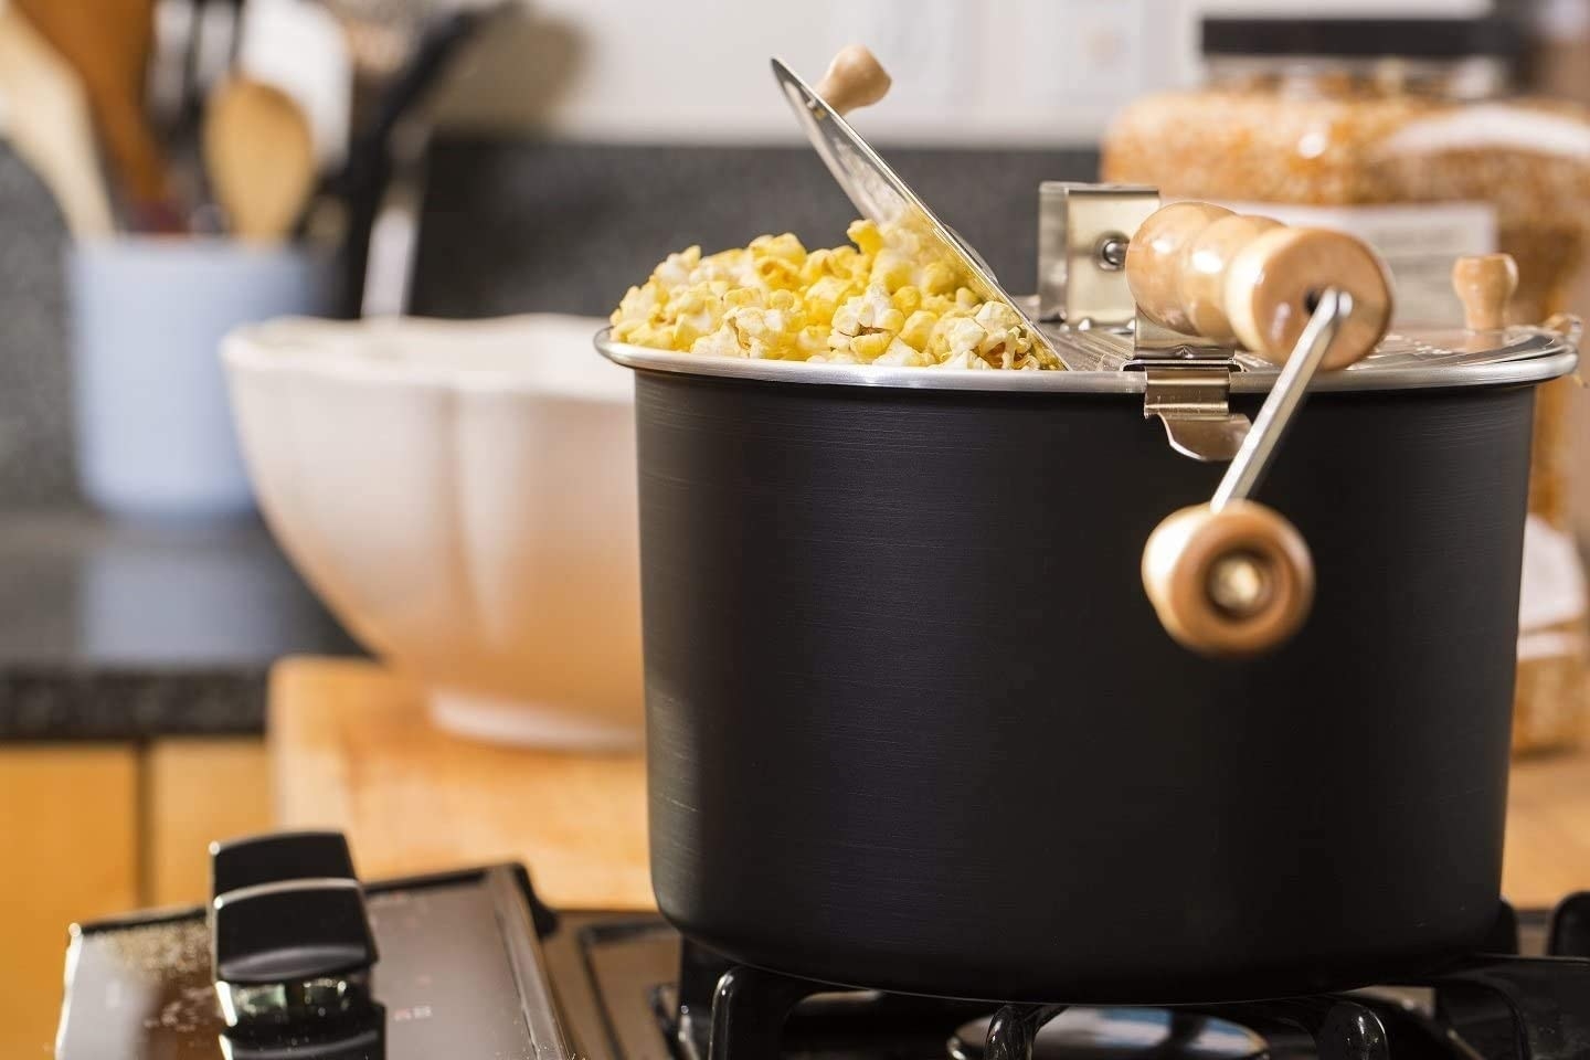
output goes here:
{"type": "Polygon", "coordinates": [[[110,197],[83,83],[22,13],[6,6],[0,6],[0,95],[11,143],[56,197],[72,235],[110,235],[110,197]]]}

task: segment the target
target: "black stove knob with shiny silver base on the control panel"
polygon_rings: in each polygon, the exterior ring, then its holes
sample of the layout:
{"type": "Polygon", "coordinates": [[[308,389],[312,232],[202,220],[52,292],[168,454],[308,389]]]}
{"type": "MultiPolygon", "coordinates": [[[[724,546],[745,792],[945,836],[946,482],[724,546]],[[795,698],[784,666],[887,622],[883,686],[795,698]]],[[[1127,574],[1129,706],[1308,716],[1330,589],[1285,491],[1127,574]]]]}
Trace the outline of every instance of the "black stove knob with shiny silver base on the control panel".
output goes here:
{"type": "Polygon", "coordinates": [[[375,936],[348,844],[335,833],[211,847],[210,946],[229,1035],[335,1038],[377,1009],[375,936]]]}

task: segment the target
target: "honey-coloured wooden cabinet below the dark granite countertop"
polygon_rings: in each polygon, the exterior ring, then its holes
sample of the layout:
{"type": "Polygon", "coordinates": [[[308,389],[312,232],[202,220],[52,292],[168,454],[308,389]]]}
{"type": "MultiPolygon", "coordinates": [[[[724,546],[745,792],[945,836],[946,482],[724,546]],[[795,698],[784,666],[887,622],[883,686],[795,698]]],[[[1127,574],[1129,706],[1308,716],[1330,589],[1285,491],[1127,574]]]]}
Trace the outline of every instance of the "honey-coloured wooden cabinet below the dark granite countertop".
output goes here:
{"type": "Polygon", "coordinates": [[[270,826],[264,741],[0,744],[0,1057],[49,1057],[67,927],[202,901],[210,839],[270,826]]]}

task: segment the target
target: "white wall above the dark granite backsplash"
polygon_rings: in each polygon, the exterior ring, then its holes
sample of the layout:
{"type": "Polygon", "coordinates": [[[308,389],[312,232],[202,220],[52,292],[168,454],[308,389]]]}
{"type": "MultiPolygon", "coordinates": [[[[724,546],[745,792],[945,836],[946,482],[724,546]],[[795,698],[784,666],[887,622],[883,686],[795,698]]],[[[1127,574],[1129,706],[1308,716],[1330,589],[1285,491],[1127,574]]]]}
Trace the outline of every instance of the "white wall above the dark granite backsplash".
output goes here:
{"type": "Polygon", "coordinates": [[[603,141],[795,143],[766,72],[816,81],[867,43],[895,78],[881,143],[1097,140],[1127,100],[1197,79],[1200,10],[1474,14],[1488,0],[526,0],[447,100],[453,124],[603,141]],[[482,76],[490,75],[490,76],[482,76]]]}

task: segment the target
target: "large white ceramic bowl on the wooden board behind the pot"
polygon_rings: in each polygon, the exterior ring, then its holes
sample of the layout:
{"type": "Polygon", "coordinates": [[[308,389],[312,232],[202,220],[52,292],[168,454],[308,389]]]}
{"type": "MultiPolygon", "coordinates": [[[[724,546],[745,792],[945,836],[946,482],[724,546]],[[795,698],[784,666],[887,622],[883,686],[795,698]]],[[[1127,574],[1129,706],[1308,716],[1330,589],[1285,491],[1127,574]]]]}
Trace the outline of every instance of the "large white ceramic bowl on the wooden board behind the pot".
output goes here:
{"type": "Polygon", "coordinates": [[[447,729],[641,742],[633,388],[601,326],[278,319],[223,343],[272,531],[447,729]]]}

